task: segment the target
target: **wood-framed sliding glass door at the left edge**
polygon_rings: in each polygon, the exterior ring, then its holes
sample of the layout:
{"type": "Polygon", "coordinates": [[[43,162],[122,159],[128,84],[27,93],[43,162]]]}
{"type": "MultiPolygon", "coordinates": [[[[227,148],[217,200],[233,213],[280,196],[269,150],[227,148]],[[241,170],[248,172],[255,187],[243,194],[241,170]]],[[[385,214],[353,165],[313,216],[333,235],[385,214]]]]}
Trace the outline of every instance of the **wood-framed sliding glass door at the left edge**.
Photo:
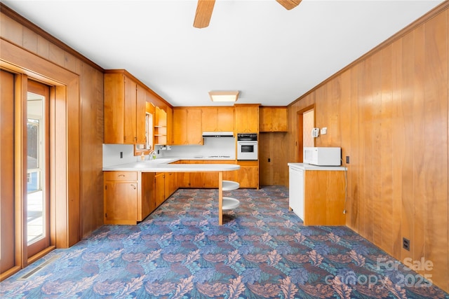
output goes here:
{"type": "Polygon", "coordinates": [[[50,88],[0,70],[0,96],[2,280],[51,247],[50,88]]]}

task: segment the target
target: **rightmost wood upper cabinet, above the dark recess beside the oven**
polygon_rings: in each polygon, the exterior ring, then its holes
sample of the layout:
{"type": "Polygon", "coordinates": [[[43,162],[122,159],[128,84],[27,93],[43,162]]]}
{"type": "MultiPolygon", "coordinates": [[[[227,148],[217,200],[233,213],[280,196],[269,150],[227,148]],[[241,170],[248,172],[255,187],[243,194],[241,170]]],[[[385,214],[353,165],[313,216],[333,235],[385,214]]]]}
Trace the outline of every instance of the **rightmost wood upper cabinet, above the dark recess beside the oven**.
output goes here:
{"type": "Polygon", "coordinates": [[[287,107],[260,107],[259,131],[260,132],[287,132],[288,131],[287,107]]]}

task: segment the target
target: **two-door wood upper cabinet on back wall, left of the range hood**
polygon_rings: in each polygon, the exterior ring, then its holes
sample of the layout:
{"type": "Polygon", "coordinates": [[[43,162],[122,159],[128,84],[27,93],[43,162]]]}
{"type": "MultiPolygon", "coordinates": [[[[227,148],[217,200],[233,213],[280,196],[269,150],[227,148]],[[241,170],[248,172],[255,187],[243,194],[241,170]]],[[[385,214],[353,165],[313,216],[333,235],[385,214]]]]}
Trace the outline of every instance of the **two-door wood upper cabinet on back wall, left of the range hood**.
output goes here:
{"type": "Polygon", "coordinates": [[[202,145],[201,109],[192,107],[173,108],[173,144],[202,145]]]}

